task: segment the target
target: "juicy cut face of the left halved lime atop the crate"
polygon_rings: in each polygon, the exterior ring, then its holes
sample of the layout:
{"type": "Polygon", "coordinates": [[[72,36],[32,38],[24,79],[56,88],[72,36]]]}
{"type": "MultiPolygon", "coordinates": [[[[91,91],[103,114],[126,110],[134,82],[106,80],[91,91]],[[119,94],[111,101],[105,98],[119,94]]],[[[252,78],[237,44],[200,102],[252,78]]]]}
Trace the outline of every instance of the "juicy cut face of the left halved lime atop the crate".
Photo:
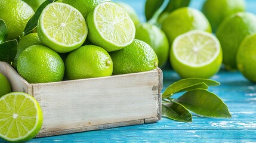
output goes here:
{"type": "Polygon", "coordinates": [[[40,23],[47,37],[60,45],[77,45],[85,41],[88,32],[82,14],[61,2],[49,4],[41,15],[40,23]]]}

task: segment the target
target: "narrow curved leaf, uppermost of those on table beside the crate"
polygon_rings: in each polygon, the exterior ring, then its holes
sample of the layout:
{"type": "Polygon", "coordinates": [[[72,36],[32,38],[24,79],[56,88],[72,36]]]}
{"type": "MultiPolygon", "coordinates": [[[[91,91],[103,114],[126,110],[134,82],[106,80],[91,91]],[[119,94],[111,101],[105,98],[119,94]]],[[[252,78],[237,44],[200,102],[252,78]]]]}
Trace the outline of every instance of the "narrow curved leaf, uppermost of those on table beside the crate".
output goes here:
{"type": "Polygon", "coordinates": [[[183,91],[190,91],[196,88],[203,88],[208,89],[208,86],[218,86],[220,85],[219,82],[216,82],[212,79],[200,79],[200,78],[187,78],[181,79],[177,82],[172,83],[172,85],[168,86],[162,94],[163,98],[170,97],[172,94],[183,92],[183,91]],[[203,85],[202,83],[205,83],[203,85]]]}

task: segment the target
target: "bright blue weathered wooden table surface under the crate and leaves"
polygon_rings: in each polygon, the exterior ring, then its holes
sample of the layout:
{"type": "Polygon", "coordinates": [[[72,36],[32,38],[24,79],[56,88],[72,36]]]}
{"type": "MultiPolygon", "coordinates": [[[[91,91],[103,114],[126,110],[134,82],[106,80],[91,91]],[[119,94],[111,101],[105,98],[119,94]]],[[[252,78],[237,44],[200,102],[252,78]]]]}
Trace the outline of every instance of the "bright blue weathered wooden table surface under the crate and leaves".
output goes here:
{"type": "MultiPolygon", "coordinates": [[[[124,0],[123,0],[124,1],[124,0]]],[[[190,7],[201,8],[202,0],[190,7]]],[[[144,0],[129,0],[143,21],[144,0]]],[[[256,1],[247,0],[247,11],[256,14],[256,1]]],[[[164,89],[178,79],[170,69],[164,71],[164,89]]],[[[214,119],[193,114],[192,123],[162,118],[157,123],[35,138],[29,142],[256,142],[256,84],[239,71],[221,70],[212,79],[221,83],[210,87],[229,107],[232,119],[214,119]]],[[[0,142],[4,142],[0,139],[0,142]]]]}

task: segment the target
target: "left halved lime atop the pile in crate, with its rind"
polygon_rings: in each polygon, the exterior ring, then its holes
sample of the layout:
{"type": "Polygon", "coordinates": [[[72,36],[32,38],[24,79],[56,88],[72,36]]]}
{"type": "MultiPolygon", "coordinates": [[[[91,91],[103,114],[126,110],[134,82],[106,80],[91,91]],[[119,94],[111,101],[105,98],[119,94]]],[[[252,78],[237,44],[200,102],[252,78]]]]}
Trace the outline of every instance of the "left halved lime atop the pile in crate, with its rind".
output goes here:
{"type": "Polygon", "coordinates": [[[44,8],[37,30],[40,41],[60,53],[79,48],[88,33],[82,14],[62,2],[53,2],[44,8]]]}

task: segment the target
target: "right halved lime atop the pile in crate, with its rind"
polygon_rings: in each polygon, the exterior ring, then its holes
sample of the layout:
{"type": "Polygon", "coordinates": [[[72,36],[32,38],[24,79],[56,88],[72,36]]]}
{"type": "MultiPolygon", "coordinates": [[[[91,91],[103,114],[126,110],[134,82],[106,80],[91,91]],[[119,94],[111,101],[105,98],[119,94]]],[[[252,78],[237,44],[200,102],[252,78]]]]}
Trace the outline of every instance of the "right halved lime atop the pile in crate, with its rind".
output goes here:
{"type": "Polygon", "coordinates": [[[135,26],[127,11],[114,2],[103,2],[88,14],[88,38],[106,51],[116,51],[132,43],[135,26]]]}

